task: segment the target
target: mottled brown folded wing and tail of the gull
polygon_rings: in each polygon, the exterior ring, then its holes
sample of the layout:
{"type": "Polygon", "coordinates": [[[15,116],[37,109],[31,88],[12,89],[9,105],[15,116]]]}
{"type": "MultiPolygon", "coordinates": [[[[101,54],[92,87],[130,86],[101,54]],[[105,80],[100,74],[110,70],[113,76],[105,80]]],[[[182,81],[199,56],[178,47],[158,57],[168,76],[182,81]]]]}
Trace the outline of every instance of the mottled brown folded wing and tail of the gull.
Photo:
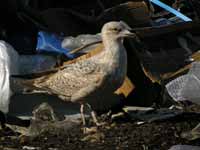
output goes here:
{"type": "Polygon", "coordinates": [[[46,91],[70,100],[76,92],[89,85],[94,85],[94,88],[97,87],[105,77],[103,68],[102,64],[83,60],[65,65],[58,72],[36,79],[23,79],[20,82],[31,89],[46,91]]]}

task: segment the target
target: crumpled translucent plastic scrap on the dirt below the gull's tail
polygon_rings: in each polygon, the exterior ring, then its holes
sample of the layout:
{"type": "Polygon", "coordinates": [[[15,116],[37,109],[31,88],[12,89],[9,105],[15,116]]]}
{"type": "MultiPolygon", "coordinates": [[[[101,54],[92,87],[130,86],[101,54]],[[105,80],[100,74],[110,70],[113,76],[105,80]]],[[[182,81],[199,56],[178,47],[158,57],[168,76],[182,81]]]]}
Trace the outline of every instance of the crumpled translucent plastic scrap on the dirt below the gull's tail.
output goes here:
{"type": "Polygon", "coordinates": [[[37,137],[45,132],[61,133],[68,132],[71,128],[80,125],[77,119],[64,119],[60,115],[54,113],[53,108],[47,103],[42,103],[33,110],[33,119],[25,136],[37,137]]]}

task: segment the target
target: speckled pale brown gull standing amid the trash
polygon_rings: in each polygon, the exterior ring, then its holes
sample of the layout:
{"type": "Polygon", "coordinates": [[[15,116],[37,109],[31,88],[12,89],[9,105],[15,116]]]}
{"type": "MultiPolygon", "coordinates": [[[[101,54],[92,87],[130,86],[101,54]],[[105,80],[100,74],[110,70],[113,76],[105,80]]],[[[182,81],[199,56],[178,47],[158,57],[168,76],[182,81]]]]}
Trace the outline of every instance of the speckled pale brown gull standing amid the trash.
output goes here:
{"type": "Polygon", "coordinates": [[[68,64],[56,73],[26,83],[38,90],[56,94],[64,101],[80,103],[84,126],[86,125],[84,106],[88,106],[94,122],[99,125],[93,106],[106,108],[112,105],[109,97],[125,79],[127,54],[123,39],[135,37],[135,34],[129,31],[130,29],[122,21],[106,23],[101,32],[104,45],[102,52],[88,59],[68,64]]]}

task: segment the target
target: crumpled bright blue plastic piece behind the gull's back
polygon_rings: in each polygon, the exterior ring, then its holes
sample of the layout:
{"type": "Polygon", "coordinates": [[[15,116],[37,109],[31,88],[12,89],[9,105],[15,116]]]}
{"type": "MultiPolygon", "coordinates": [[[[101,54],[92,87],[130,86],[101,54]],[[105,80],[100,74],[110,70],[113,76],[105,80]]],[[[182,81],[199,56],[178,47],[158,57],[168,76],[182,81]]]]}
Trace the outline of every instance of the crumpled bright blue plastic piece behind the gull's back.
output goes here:
{"type": "Polygon", "coordinates": [[[53,52],[64,54],[68,58],[74,58],[72,54],[69,54],[70,49],[62,48],[63,37],[57,36],[53,33],[44,31],[38,32],[38,41],[36,50],[38,52],[53,52]]]}

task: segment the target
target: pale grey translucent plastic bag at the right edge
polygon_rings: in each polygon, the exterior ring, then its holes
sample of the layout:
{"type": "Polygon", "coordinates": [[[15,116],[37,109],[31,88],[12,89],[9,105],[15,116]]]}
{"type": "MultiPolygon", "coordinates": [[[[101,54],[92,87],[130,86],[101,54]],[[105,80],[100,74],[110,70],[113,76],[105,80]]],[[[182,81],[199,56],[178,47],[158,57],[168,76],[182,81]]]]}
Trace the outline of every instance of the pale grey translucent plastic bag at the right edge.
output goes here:
{"type": "Polygon", "coordinates": [[[175,101],[189,100],[200,104],[200,62],[192,63],[190,71],[169,82],[166,89],[175,101]]]}

